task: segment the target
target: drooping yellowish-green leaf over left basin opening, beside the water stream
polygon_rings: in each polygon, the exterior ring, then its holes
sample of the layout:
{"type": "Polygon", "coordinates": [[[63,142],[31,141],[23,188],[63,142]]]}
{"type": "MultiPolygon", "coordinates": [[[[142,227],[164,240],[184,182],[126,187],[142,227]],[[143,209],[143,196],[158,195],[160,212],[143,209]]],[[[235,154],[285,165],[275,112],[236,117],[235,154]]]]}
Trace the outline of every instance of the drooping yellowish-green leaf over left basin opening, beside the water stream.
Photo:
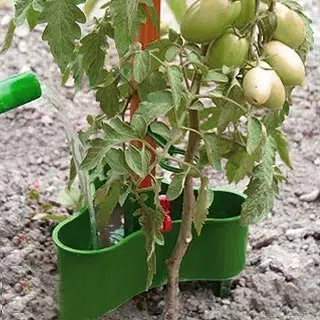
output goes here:
{"type": "Polygon", "coordinates": [[[121,195],[122,182],[113,181],[107,188],[96,191],[97,226],[101,230],[108,225],[113,210],[118,204],[121,195]]]}

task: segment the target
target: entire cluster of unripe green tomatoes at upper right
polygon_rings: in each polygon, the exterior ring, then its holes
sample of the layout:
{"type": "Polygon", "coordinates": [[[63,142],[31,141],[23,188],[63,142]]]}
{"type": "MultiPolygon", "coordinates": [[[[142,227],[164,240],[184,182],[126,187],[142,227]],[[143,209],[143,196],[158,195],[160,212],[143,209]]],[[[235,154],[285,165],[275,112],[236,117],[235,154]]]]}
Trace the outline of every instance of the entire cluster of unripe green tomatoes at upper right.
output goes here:
{"type": "Polygon", "coordinates": [[[306,25],[297,12],[276,2],[276,29],[259,56],[253,47],[255,23],[269,9],[263,2],[257,8],[256,0],[198,0],[186,11],[181,33],[187,41],[209,44],[205,63],[210,69],[245,66],[246,101],[280,109],[286,101],[285,87],[303,85],[305,80],[305,66],[296,49],[305,41],[306,25]]]}

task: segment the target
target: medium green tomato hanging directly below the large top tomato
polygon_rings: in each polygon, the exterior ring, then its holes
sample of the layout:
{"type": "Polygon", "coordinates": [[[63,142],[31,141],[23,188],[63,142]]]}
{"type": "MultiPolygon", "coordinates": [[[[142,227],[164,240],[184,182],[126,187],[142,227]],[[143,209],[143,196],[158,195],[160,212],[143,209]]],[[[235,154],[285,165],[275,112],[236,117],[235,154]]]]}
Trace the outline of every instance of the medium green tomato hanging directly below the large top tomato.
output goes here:
{"type": "Polygon", "coordinates": [[[248,58],[250,43],[247,38],[228,32],[213,42],[208,50],[206,64],[211,69],[239,67],[248,58]]]}

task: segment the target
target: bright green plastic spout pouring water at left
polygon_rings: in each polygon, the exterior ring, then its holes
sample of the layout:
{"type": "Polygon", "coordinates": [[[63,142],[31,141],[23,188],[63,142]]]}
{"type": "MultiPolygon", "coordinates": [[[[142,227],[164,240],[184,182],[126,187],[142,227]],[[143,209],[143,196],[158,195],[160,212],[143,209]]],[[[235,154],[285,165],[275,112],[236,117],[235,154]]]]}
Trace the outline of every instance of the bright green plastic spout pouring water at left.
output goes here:
{"type": "Polygon", "coordinates": [[[32,72],[0,81],[0,114],[41,97],[41,86],[32,72]]]}

